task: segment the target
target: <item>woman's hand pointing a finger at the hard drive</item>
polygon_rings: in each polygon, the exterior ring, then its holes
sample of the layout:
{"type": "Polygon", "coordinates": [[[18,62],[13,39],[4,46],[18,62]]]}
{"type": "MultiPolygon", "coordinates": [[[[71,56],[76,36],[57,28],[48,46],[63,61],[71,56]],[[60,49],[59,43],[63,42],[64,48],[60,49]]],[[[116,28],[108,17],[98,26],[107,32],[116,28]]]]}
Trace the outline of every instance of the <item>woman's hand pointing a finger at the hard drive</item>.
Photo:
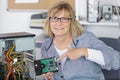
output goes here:
{"type": "Polygon", "coordinates": [[[68,57],[70,60],[76,60],[76,59],[80,58],[81,56],[84,56],[84,57],[88,56],[87,48],[73,48],[73,49],[69,49],[66,53],[61,55],[57,59],[57,61],[62,60],[64,57],[68,57]]]}

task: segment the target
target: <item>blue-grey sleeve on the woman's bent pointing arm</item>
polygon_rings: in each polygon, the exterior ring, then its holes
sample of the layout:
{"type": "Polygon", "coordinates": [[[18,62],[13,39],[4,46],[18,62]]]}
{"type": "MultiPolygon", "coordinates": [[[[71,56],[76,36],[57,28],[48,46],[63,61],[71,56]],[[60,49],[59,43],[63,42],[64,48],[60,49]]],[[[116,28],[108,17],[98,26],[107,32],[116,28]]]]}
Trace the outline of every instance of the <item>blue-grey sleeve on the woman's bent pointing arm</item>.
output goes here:
{"type": "Polygon", "coordinates": [[[105,65],[100,65],[101,68],[111,70],[120,68],[120,52],[114,50],[112,47],[106,45],[99,40],[93,33],[87,35],[87,40],[90,49],[100,50],[103,54],[105,65]]]}

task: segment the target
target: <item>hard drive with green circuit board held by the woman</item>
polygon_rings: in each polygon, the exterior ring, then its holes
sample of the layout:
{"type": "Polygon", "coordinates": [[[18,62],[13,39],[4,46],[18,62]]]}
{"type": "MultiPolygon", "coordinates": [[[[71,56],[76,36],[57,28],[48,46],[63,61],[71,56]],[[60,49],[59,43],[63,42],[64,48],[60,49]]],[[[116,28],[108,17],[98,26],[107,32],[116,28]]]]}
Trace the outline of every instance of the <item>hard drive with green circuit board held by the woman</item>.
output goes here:
{"type": "Polygon", "coordinates": [[[41,75],[47,72],[57,72],[58,66],[55,57],[45,58],[34,61],[36,75],[41,75]]]}

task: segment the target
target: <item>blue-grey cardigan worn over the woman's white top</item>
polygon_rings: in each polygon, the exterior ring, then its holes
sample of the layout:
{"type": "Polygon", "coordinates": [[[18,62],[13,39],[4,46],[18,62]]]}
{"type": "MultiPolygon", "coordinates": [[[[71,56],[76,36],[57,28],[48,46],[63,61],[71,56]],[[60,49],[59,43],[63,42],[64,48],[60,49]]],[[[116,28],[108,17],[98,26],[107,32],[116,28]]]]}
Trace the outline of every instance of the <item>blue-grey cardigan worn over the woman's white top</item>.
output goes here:
{"type": "MultiPolygon", "coordinates": [[[[53,46],[53,39],[48,38],[41,46],[42,58],[59,57],[56,49],[53,46]]],[[[71,48],[90,48],[100,50],[103,53],[105,65],[99,65],[95,62],[89,61],[84,57],[80,57],[75,61],[67,58],[63,71],[61,64],[58,62],[59,71],[53,74],[53,80],[105,80],[101,71],[104,69],[118,69],[120,68],[120,52],[107,46],[99,40],[93,33],[84,31],[82,35],[73,38],[71,48]]]]}

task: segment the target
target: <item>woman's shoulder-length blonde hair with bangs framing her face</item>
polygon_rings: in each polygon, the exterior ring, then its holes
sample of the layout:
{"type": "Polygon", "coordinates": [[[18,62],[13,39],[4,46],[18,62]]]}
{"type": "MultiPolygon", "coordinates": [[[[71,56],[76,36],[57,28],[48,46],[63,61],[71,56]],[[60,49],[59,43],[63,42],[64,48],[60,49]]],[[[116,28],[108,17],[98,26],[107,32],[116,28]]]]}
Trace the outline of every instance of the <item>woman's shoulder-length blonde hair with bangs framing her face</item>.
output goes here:
{"type": "Polygon", "coordinates": [[[70,32],[72,37],[76,37],[81,35],[82,31],[83,31],[83,27],[80,25],[80,23],[75,19],[75,13],[71,7],[70,4],[68,4],[65,1],[60,1],[58,3],[56,3],[52,8],[50,8],[50,10],[48,11],[48,17],[45,21],[45,25],[44,25],[44,31],[45,33],[49,36],[49,37],[54,37],[54,34],[52,33],[51,29],[50,29],[50,22],[49,22],[49,17],[50,16],[54,16],[57,12],[61,11],[61,10],[65,10],[67,11],[67,13],[69,14],[70,18],[72,18],[71,20],[71,26],[70,26],[70,32]]]}

